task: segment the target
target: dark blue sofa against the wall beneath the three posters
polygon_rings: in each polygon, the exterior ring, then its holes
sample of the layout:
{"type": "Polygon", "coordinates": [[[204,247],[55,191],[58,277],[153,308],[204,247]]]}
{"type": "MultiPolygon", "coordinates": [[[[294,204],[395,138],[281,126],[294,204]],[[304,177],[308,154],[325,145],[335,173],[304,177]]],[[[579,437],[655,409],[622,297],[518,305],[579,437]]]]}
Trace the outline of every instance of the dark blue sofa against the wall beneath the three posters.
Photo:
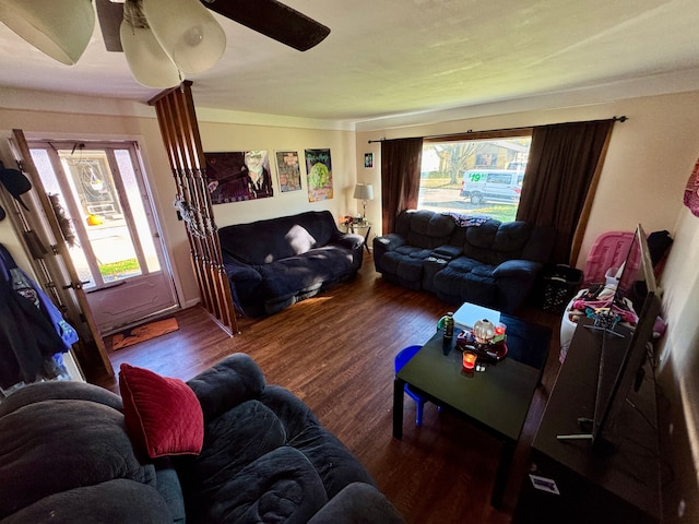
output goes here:
{"type": "Polygon", "coordinates": [[[310,211],[218,230],[236,307],[249,317],[276,313],[352,278],[364,237],[341,233],[329,211],[310,211]]]}

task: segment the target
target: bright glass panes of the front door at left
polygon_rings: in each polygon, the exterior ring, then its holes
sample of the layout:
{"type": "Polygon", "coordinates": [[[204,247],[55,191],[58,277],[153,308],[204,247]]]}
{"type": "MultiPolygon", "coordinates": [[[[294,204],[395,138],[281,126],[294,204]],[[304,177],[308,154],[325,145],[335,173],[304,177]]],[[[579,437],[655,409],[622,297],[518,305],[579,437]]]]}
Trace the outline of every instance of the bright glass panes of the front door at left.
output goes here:
{"type": "Polygon", "coordinates": [[[54,207],[69,222],[63,236],[84,287],[159,271],[129,148],[66,145],[32,144],[31,152],[54,207]]]}

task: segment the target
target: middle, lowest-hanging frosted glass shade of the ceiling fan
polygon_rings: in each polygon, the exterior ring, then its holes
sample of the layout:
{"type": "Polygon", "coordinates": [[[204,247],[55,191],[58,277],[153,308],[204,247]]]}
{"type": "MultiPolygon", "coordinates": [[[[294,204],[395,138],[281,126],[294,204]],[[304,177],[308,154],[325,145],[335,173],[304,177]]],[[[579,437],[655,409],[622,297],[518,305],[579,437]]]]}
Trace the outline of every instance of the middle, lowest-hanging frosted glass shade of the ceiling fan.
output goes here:
{"type": "Polygon", "coordinates": [[[134,27],[123,20],[119,37],[131,74],[139,84],[161,90],[179,85],[177,66],[149,27],[134,27]]]}

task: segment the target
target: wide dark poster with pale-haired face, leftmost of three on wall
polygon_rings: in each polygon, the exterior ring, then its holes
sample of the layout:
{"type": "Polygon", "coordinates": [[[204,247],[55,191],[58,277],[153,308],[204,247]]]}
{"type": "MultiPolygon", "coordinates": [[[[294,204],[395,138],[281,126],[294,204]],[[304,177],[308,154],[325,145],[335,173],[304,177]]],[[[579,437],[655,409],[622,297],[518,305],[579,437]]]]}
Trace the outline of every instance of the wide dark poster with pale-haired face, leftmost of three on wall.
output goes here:
{"type": "Polygon", "coordinates": [[[204,158],[213,204],[274,195],[266,151],[204,153],[204,158]]]}

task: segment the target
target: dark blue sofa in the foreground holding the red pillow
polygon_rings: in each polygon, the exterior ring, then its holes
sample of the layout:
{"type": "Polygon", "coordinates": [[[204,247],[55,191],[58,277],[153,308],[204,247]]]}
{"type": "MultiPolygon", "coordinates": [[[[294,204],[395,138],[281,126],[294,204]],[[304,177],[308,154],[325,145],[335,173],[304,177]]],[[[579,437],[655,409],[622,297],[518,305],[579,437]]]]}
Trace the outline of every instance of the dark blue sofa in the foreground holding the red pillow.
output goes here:
{"type": "Polygon", "coordinates": [[[404,523],[344,444],[299,398],[266,384],[248,355],[181,386],[201,404],[198,455],[144,456],[123,388],[123,402],[67,381],[3,400],[0,523],[404,523]]]}

